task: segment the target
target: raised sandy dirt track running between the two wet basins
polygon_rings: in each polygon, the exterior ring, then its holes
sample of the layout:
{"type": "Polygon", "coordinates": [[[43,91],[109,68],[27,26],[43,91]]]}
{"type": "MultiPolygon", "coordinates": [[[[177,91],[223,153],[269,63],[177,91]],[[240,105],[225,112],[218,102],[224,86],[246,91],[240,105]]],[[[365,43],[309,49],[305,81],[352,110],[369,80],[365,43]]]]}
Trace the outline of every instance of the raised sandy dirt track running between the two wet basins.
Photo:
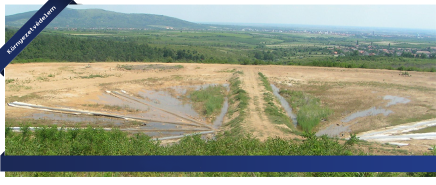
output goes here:
{"type": "Polygon", "coordinates": [[[261,140],[268,137],[295,137],[294,134],[284,133],[279,129],[280,125],[274,124],[268,120],[265,114],[265,100],[263,93],[266,91],[265,87],[261,85],[259,74],[253,67],[243,69],[244,75],[241,75],[242,88],[247,91],[249,99],[248,116],[243,122],[244,127],[249,132],[261,140]]]}

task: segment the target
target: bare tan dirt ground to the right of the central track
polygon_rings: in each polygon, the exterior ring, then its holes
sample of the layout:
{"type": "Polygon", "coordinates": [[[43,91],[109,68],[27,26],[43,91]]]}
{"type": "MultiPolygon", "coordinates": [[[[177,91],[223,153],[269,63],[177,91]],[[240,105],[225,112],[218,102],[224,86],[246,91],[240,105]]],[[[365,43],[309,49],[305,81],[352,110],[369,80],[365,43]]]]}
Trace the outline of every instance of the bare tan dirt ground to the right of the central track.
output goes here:
{"type": "MultiPolygon", "coordinates": [[[[269,66],[259,70],[281,89],[308,92],[320,98],[323,105],[334,111],[315,131],[333,131],[332,136],[347,138],[351,132],[360,133],[436,117],[434,73],[411,72],[412,76],[401,76],[398,75],[399,71],[378,69],[291,68],[294,70],[287,70],[282,66],[269,66]],[[385,98],[389,96],[404,98],[408,102],[393,104],[391,99],[385,98]],[[374,109],[385,109],[390,113],[384,115],[374,109]],[[363,116],[350,118],[359,112],[363,112],[363,116]],[[368,112],[377,114],[367,115],[368,112]]],[[[400,142],[410,144],[401,146],[410,150],[409,153],[427,151],[436,144],[436,140],[431,137],[400,142]]]]}

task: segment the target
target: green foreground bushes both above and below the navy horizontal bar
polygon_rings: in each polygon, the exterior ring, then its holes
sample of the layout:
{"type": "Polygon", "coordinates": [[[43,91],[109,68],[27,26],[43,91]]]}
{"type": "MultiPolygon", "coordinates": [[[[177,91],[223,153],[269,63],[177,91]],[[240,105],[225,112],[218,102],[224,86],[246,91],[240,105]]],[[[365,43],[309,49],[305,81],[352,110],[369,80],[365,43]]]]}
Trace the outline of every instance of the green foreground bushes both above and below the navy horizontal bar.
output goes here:
{"type": "MultiPolygon", "coordinates": [[[[129,135],[118,129],[58,130],[56,127],[5,132],[6,155],[352,155],[358,140],[340,144],[337,139],[304,134],[302,141],[268,138],[260,141],[250,134],[201,139],[188,136],[172,145],[160,145],[150,137],[129,135]]],[[[435,151],[426,154],[436,154],[435,151]]],[[[436,176],[435,172],[7,172],[6,176],[436,176]]]]}

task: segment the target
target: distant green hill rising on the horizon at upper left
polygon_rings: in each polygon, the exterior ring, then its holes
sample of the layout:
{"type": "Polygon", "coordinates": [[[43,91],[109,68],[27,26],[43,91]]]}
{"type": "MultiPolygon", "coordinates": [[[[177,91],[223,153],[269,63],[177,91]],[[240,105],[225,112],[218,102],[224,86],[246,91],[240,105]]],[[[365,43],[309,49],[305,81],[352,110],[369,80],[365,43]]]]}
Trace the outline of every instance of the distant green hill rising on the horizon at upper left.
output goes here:
{"type": "MultiPolygon", "coordinates": [[[[6,25],[21,27],[37,11],[28,11],[5,17],[6,25]]],[[[118,13],[103,9],[71,9],[65,8],[49,25],[50,27],[112,27],[112,28],[208,28],[210,25],[199,24],[178,18],[145,14],[145,13],[118,13]]]]}

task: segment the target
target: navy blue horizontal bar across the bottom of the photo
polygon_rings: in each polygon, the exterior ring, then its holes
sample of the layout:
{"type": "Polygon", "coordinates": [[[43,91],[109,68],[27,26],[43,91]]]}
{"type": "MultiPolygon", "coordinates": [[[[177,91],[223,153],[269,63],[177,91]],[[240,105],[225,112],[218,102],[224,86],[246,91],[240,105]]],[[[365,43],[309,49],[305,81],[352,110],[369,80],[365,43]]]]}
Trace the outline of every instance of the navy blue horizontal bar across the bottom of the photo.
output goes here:
{"type": "Polygon", "coordinates": [[[0,156],[0,172],[434,172],[434,166],[436,156],[0,156]]]}

